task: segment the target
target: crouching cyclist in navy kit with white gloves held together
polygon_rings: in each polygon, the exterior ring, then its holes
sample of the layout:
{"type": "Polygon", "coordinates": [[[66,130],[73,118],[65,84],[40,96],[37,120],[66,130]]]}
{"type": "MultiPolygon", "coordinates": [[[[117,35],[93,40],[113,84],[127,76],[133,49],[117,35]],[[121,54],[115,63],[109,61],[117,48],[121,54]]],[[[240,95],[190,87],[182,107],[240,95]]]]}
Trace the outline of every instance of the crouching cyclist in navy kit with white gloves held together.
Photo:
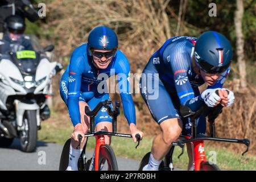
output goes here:
{"type": "MultiPolygon", "coordinates": [[[[232,91],[222,88],[230,71],[232,47],[224,35],[215,31],[204,32],[198,39],[176,36],[167,40],[151,56],[143,70],[140,88],[152,117],[160,125],[161,133],[152,143],[150,159],[143,170],[158,170],[160,162],[179,135],[191,135],[189,119],[181,118],[179,106],[196,111],[205,102],[207,106],[230,106],[232,91]],[[153,76],[152,76],[153,75],[153,76]],[[146,80],[145,78],[151,79],[146,80]],[[154,87],[151,81],[158,81],[154,87]],[[200,93],[198,86],[208,85],[200,93]],[[150,97],[158,90],[157,98],[150,97]]],[[[205,117],[197,119],[197,134],[205,134],[205,117]]],[[[192,147],[187,144],[189,165],[192,169],[192,147]]]]}

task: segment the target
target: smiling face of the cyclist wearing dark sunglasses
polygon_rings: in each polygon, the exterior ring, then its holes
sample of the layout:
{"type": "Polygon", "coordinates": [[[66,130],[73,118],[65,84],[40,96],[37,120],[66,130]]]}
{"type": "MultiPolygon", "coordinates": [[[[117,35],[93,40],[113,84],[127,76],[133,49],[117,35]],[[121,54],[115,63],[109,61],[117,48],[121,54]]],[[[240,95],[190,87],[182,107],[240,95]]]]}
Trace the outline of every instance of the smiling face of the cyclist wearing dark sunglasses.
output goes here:
{"type": "MultiPolygon", "coordinates": [[[[94,49],[93,51],[102,52],[102,53],[111,52],[111,51],[101,50],[101,49],[94,49]]],[[[113,56],[108,57],[108,56],[104,55],[104,56],[97,57],[97,56],[93,55],[94,65],[98,69],[106,69],[108,67],[108,65],[110,64],[110,62],[112,61],[112,59],[113,59],[113,56]]]]}

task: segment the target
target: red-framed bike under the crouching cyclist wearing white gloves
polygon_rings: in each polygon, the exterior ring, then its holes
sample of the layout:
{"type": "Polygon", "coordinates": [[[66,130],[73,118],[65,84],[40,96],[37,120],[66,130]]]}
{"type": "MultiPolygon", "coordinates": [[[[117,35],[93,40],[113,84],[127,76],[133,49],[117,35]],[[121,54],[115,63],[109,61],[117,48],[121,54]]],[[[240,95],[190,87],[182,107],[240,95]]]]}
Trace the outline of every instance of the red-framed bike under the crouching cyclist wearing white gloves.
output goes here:
{"type": "MultiPolygon", "coordinates": [[[[216,107],[208,107],[207,105],[203,105],[196,112],[191,111],[187,106],[180,106],[180,114],[184,118],[190,118],[192,123],[192,137],[186,137],[184,135],[180,135],[179,140],[176,142],[172,142],[172,147],[168,151],[167,155],[164,157],[163,162],[159,166],[159,170],[163,171],[173,171],[174,165],[172,162],[172,155],[174,153],[175,146],[179,146],[182,148],[181,154],[178,156],[180,158],[184,153],[184,145],[185,143],[192,143],[193,146],[193,167],[195,171],[218,171],[220,168],[216,164],[207,161],[205,157],[204,151],[204,140],[213,140],[218,142],[232,142],[232,143],[241,143],[247,146],[246,151],[242,153],[244,155],[250,146],[249,139],[232,139],[232,138],[217,138],[215,137],[215,119],[222,111],[222,106],[218,105],[216,107]],[[208,116],[208,122],[210,123],[210,137],[207,136],[197,136],[196,133],[196,119],[200,117],[200,115],[208,116]]],[[[141,164],[139,166],[139,170],[148,163],[148,159],[150,157],[150,152],[148,152],[142,159],[141,164]]]]}

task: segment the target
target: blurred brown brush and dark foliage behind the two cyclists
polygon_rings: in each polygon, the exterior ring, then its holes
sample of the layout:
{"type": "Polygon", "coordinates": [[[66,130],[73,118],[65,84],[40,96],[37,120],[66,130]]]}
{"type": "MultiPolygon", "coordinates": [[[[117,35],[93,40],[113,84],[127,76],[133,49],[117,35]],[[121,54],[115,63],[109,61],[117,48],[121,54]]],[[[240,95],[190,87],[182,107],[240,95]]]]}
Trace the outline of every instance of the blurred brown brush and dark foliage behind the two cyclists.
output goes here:
{"type": "MultiPolygon", "coordinates": [[[[37,6],[41,0],[34,1],[37,6]]],[[[245,62],[248,85],[239,89],[240,74],[237,65],[235,11],[236,0],[48,0],[46,18],[38,23],[29,23],[27,32],[36,34],[42,42],[56,46],[55,57],[64,66],[69,63],[73,49],[87,42],[89,31],[96,26],[109,26],[118,34],[119,48],[129,58],[131,72],[141,73],[148,59],[172,36],[199,37],[204,31],[214,30],[224,34],[233,46],[232,72],[228,88],[233,89],[237,101],[232,108],[224,110],[217,125],[218,134],[225,137],[253,140],[255,150],[256,105],[256,0],[244,0],[242,19],[245,40],[245,62]],[[209,16],[209,3],[216,3],[217,16],[209,16]],[[236,122],[225,119],[232,118],[236,122]],[[237,124],[236,124],[237,123],[237,124]],[[240,130],[236,130],[237,128],[240,130]],[[229,132],[226,131],[229,129],[229,132]]],[[[64,102],[59,97],[59,85],[55,85],[55,108],[64,110],[64,102]]],[[[148,135],[159,131],[139,94],[134,96],[138,126],[148,135]],[[155,126],[155,132],[152,128],[155,126]]],[[[123,121],[124,119],[122,119],[123,121]]],[[[124,122],[123,125],[126,125],[124,122]]],[[[231,146],[232,147],[232,146],[231,146]]],[[[239,150],[239,148],[238,148],[239,150]]]]}

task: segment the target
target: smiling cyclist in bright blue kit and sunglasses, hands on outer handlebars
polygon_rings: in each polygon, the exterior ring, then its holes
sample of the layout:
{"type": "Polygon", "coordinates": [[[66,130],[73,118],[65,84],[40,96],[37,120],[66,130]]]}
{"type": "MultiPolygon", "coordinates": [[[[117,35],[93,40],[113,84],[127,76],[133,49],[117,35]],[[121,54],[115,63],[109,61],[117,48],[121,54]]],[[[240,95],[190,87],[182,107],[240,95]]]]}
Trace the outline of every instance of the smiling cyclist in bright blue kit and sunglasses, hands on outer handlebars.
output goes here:
{"type": "MultiPolygon", "coordinates": [[[[123,111],[134,142],[136,142],[136,134],[143,137],[143,133],[136,127],[135,107],[129,84],[129,61],[118,49],[115,32],[105,26],[96,27],[90,32],[88,43],[82,44],[73,51],[70,63],[60,81],[60,95],[68,106],[74,126],[67,170],[77,170],[77,162],[86,142],[86,138],[83,137],[81,147],[76,149],[79,144],[77,136],[79,134],[84,136],[89,128],[89,117],[85,114],[85,106],[93,110],[98,102],[109,98],[109,93],[105,92],[108,88],[105,88],[102,82],[105,82],[103,78],[112,75],[117,75],[123,111]]],[[[105,107],[102,107],[96,115],[95,123],[97,131],[112,131],[112,117],[108,115],[105,107]]],[[[109,144],[110,137],[105,136],[105,141],[109,144]]]]}

